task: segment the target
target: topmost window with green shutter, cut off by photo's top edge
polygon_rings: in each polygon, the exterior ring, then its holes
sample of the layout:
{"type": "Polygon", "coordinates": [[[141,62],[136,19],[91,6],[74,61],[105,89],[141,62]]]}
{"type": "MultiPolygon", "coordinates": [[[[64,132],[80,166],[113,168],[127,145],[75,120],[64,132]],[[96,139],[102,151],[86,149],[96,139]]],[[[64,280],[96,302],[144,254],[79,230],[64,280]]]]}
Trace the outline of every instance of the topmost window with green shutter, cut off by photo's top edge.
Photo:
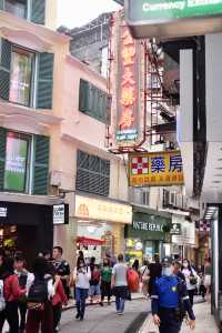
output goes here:
{"type": "Polygon", "coordinates": [[[37,24],[44,24],[46,0],[0,0],[0,10],[37,24]]]}

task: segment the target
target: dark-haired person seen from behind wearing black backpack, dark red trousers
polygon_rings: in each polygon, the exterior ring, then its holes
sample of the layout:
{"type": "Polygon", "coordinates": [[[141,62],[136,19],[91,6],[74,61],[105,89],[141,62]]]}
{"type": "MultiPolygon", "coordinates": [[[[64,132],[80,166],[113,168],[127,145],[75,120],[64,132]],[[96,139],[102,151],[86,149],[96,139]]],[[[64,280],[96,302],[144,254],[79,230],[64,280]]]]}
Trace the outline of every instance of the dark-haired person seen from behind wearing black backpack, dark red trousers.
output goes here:
{"type": "Polygon", "coordinates": [[[33,263],[33,280],[28,285],[28,317],[26,333],[53,333],[51,300],[60,278],[53,283],[48,261],[38,256],[33,263]]]}

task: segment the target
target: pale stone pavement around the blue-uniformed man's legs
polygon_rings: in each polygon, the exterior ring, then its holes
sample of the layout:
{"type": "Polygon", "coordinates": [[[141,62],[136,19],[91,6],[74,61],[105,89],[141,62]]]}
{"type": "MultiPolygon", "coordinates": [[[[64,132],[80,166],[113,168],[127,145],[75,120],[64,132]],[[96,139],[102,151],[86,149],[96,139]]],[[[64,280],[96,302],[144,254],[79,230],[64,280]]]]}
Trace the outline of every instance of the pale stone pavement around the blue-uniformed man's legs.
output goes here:
{"type": "MultiPolygon", "coordinates": [[[[219,329],[216,327],[214,317],[211,315],[211,307],[210,304],[204,303],[198,303],[194,305],[194,313],[196,316],[196,327],[194,331],[191,331],[190,327],[185,323],[183,323],[181,333],[219,333],[219,329]]],[[[141,329],[139,330],[139,333],[158,333],[159,330],[157,326],[154,326],[152,322],[152,316],[149,315],[141,329]]],[[[168,332],[165,332],[168,333],[168,332]]]]}

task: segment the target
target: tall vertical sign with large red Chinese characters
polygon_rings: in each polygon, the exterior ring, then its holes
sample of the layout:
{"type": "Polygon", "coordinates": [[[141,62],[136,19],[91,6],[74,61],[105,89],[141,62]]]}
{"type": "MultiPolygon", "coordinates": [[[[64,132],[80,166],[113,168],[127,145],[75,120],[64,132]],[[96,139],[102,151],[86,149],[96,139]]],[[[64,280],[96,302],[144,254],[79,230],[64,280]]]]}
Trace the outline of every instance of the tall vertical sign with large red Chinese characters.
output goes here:
{"type": "Polygon", "coordinates": [[[139,147],[144,139],[144,47],[135,41],[122,13],[114,16],[111,33],[113,64],[112,132],[115,147],[139,147]]]}

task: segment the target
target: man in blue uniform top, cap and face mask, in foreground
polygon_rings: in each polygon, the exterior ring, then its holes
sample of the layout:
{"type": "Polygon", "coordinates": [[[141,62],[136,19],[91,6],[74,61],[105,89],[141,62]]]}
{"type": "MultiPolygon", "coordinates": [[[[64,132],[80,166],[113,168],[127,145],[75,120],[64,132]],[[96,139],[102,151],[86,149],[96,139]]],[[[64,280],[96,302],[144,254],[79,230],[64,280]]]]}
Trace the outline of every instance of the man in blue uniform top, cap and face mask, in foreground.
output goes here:
{"type": "Polygon", "coordinates": [[[173,271],[171,259],[164,259],[162,276],[157,279],[151,294],[153,322],[159,326],[160,333],[179,333],[186,313],[190,329],[195,329],[195,316],[185,282],[175,276],[173,271]]]}

